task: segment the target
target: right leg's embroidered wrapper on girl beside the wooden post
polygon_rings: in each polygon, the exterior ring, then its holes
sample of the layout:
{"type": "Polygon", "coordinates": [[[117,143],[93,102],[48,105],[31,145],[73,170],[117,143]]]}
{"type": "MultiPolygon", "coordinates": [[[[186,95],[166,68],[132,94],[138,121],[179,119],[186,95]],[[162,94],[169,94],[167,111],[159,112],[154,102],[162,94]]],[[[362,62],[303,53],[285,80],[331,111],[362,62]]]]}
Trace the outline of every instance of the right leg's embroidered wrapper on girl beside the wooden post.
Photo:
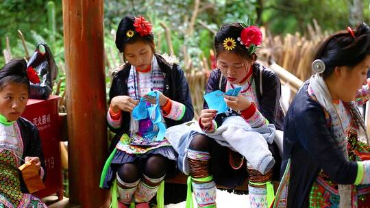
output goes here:
{"type": "Polygon", "coordinates": [[[148,203],[153,196],[156,196],[163,179],[164,176],[158,179],[151,179],[143,174],[143,179],[141,179],[134,194],[135,203],[148,203]]]}

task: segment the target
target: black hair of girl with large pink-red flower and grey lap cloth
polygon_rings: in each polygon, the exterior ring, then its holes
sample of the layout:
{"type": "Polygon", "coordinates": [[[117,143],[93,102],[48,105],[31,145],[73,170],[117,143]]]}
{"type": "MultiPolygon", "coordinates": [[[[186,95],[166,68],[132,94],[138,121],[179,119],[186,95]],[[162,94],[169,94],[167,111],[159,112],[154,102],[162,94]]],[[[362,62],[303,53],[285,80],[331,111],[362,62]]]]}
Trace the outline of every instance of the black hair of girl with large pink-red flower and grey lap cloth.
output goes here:
{"type": "Polygon", "coordinates": [[[246,49],[245,46],[240,44],[240,42],[237,40],[244,28],[245,27],[242,23],[226,23],[225,25],[222,25],[219,31],[217,31],[217,34],[214,36],[214,49],[216,50],[216,56],[223,51],[227,51],[223,47],[223,41],[226,38],[233,38],[236,41],[236,47],[230,52],[236,53],[247,60],[256,60],[256,53],[250,55],[248,49],[246,49]]]}

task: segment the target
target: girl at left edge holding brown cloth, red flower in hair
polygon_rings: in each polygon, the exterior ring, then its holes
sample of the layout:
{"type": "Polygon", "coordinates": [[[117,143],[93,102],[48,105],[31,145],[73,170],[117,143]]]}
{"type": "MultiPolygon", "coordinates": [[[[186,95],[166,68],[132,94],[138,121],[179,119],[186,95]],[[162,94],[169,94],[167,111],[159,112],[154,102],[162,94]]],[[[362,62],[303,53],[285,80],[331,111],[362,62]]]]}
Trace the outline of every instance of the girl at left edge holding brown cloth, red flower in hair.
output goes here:
{"type": "Polygon", "coordinates": [[[18,170],[30,161],[39,169],[41,179],[45,175],[38,130],[21,118],[29,81],[36,83],[38,77],[21,58],[11,60],[0,70],[0,207],[47,207],[36,196],[25,194],[28,190],[18,170]]]}

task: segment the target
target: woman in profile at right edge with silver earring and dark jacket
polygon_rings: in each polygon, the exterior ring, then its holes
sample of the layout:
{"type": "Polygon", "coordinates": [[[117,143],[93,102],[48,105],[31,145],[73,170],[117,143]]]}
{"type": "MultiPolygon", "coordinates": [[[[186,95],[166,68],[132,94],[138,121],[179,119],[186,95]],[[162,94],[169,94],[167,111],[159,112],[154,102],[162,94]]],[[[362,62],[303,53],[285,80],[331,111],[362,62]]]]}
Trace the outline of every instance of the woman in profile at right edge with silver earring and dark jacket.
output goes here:
{"type": "Polygon", "coordinates": [[[369,138],[358,111],[370,98],[369,67],[365,23],[321,44],[312,63],[315,74],[286,114],[274,207],[369,207],[369,138]]]}

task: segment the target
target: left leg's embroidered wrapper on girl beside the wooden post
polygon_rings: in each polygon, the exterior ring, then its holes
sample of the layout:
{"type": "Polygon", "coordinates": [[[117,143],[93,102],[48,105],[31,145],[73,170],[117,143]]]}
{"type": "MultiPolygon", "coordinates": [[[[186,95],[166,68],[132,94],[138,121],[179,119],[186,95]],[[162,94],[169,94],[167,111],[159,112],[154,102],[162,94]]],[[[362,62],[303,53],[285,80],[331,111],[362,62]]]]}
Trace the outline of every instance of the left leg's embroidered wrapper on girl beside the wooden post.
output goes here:
{"type": "Polygon", "coordinates": [[[134,195],[134,192],[136,191],[138,184],[140,183],[140,179],[138,181],[135,181],[134,183],[125,183],[119,177],[119,174],[117,174],[116,177],[119,201],[125,205],[130,205],[132,203],[132,196],[134,195]]]}

